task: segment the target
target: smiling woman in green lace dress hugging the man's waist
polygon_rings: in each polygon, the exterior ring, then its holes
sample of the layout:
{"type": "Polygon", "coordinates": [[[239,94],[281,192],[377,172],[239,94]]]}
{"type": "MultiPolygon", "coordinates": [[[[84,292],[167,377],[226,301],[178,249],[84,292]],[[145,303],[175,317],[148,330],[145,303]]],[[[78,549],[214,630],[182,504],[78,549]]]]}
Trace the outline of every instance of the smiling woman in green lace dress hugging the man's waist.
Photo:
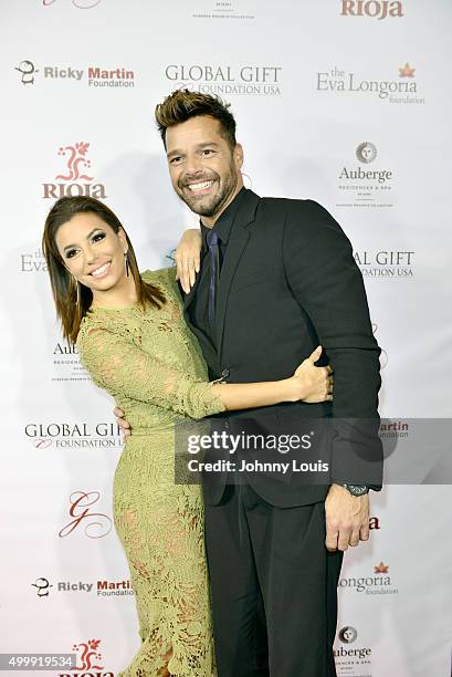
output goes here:
{"type": "Polygon", "coordinates": [[[134,429],[114,479],[114,518],[135,591],[141,646],[125,676],[214,671],[200,487],[175,483],[177,421],[227,409],[330,399],[317,348],[294,376],[209,383],[185,323],[174,268],[139,273],[118,218],[88,197],[62,198],[44,228],[56,312],[93,381],[134,429]]]}

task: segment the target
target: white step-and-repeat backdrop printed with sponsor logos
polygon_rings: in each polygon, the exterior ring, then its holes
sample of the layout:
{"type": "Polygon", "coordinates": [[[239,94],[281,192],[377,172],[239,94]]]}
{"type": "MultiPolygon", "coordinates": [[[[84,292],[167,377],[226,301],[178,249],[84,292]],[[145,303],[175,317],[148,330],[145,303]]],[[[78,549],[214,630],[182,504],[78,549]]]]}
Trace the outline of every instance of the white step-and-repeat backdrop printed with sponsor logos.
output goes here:
{"type": "MultiPolygon", "coordinates": [[[[76,654],[48,675],[117,675],[139,644],[112,518],[122,439],[55,321],[46,212],[101,198],[141,269],[171,264],[196,219],[172,194],[155,105],[182,86],[230,102],[245,185],[319,201],[353,242],[382,347],[381,435],[410,465],[416,421],[451,417],[452,6],[3,0],[0,18],[0,652],[76,654]]],[[[339,676],[451,676],[441,462],[372,496],[371,539],[339,582],[339,676]]]]}

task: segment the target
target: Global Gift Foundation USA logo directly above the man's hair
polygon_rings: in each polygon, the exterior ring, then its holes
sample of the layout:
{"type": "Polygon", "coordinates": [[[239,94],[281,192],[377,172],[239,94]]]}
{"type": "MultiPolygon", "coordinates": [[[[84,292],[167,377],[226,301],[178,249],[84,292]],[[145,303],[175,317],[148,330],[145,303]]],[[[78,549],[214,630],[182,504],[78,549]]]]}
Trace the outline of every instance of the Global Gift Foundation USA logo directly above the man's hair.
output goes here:
{"type": "Polygon", "coordinates": [[[282,70],[278,65],[169,64],[165,77],[175,88],[207,94],[278,96],[282,70]]]}

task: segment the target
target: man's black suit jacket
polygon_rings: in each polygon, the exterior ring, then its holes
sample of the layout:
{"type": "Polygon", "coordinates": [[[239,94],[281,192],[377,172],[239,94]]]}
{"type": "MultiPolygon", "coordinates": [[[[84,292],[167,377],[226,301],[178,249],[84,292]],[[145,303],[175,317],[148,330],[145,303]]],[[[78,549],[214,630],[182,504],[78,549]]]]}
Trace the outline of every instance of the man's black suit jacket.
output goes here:
{"type": "MultiPolygon", "coordinates": [[[[185,296],[187,322],[196,293],[197,284],[185,296]]],[[[306,486],[299,473],[250,473],[246,480],[262,498],[290,507],[324,500],[333,481],[380,488],[380,348],[350,242],[322,206],[260,198],[246,190],[221,269],[217,350],[202,332],[191,329],[211,377],[223,375],[230,383],[286,378],[318,344],[334,369],[333,404],[231,412],[219,424],[239,433],[243,419],[252,418],[267,431],[283,434],[306,418],[334,419],[323,438],[329,449],[329,480],[306,486]]],[[[204,483],[209,503],[221,500],[224,482],[225,477],[217,475],[204,483]]]]}

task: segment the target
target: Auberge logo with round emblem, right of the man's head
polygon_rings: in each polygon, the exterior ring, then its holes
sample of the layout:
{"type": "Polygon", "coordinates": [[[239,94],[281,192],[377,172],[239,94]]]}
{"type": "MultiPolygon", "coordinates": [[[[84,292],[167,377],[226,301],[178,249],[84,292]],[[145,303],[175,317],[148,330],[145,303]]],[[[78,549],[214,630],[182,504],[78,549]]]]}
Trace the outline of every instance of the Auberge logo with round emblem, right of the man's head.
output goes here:
{"type": "Polygon", "coordinates": [[[355,157],[360,165],[341,165],[337,170],[337,207],[388,208],[392,207],[391,190],[393,171],[387,167],[374,165],[377,147],[371,142],[362,142],[355,149],[355,157]],[[371,168],[361,165],[372,164],[371,168]]]}

